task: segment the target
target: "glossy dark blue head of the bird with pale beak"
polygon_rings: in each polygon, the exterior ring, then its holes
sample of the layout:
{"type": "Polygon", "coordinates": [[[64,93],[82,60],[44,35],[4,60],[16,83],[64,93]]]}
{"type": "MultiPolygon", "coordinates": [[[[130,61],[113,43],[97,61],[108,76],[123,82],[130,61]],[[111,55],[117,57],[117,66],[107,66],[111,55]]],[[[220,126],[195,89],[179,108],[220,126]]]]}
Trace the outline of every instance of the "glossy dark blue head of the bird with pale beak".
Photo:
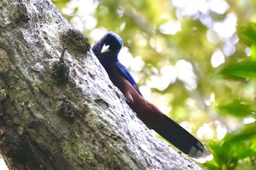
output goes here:
{"type": "Polygon", "coordinates": [[[122,46],[123,40],[121,37],[114,32],[109,32],[92,47],[92,51],[100,63],[109,63],[117,60],[122,46]]]}

